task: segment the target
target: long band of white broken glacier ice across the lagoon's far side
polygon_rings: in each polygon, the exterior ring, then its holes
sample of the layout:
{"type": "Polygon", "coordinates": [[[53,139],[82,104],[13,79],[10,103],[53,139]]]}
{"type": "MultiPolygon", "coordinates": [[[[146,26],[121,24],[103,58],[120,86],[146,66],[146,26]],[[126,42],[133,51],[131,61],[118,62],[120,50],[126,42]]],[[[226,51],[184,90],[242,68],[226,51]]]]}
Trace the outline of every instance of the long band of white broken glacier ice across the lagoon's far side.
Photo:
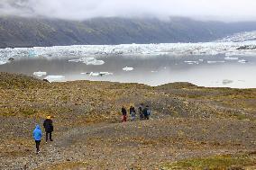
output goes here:
{"type": "MultiPolygon", "coordinates": [[[[242,42],[215,41],[199,43],[121,44],[121,45],[74,45],[34,48],[0,49],[0,65],[9,63],[10,58],[70,58],[70,62],[87,65],[103,65],[96,58],[111,56],[151,58],[157,56],[256,56],[256,40],[242,42]],[[251,47],[242,49],[241,47],[251,47]],[[79,58],[79,59],[74,59],[79,58]]],[[[203,58],[202,58],[203,59],[203,58]]],[[[233,58],[234,59],[234,58],[233,58]]],[[[190,62],[191,64],[192,62],[190,62]]],[[[189,64],[189,62],[188,62],[189,64]]],[[[194,63],[195,64],[195,63],[194,63]]]]}

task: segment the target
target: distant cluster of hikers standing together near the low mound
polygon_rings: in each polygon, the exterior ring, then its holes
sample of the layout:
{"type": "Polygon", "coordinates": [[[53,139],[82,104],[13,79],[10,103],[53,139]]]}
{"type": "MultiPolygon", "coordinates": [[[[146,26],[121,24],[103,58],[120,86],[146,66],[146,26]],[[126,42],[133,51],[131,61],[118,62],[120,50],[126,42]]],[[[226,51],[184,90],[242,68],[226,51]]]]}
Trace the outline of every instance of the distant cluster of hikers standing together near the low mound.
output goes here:
{"type": "MultiPolygon", "coordinates": [[[[122,107],[122,122],[127,121],[127,111],[126,108],[123,106],[122,107]]],[[[132,103],[129,109],[130,115],[131,115],[131,121],[135,121],[136,119],[136,110],[134,107],[134,104],[132,103]]],[[[150,116],[151,116],[151,109],[149,105],[146,105],[146,107],[144,107],[144,104],[141,103],[139,108],[138,108],[138,112],[139,112],[139,116],[140,116],[140,120],[149,120],[150,116]]]]}

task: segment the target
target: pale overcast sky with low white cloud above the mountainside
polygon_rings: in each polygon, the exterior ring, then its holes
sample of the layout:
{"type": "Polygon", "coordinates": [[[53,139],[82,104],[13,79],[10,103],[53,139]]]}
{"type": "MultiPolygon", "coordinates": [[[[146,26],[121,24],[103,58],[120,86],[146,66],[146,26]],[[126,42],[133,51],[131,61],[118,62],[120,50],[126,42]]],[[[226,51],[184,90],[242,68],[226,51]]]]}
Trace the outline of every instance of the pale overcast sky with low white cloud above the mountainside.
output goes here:
{"type": "Polygon", "coordinates": [[[185,16],[226,22],[255,21],[256,0],[0,0],[0,14],[71,20],[185,16]]]}

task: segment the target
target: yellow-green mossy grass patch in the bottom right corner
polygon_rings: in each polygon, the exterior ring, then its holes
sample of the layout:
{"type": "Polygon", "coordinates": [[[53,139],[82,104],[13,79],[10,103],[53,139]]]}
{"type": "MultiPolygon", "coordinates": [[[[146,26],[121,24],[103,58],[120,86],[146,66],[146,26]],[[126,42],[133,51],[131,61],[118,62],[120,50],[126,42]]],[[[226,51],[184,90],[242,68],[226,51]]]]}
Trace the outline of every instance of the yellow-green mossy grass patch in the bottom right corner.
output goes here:
{"type": "Polygon", "coordinates": [[[207,169],[207,170],[225,170],[225,169],[244,169],[247,166],[254,166],[256,168],[256,155],[246,156],[215,156],[204,157],[178,161],[171,164],[161,166],[163,170],[170,169],[207,169]]]}

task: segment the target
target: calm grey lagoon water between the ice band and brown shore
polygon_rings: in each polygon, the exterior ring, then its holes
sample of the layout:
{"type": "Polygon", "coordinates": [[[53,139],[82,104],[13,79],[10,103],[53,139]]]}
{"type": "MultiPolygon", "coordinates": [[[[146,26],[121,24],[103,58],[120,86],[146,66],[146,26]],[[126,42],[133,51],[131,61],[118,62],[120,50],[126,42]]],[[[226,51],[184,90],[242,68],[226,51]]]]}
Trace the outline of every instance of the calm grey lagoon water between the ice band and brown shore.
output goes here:
{"type": "MultiPolygon", "coordinates": [[[[47,72],[47,76],[65,76],[54,81],[112,81],[163,85],[172,82],[190,82],[210,87],[256,88],[256,58],[217,56],[108,56],[97,57],[103,65],[87,65],[70,62],[76,58],[17,58],[0,65],[1,72],[22,73],[33,76],[34,72],[47,72]],[[238,62],[239,60],[245,62],[238,62]],[[123,67],[133,67],[124,71],[123,67]],[[94,74],[90,74],[93,72],[94,74]],[[110,75],[99,75],[109,72],[110,75]],[[113,73],[113,75],[112,75],[113,73]]],[[[39,78],[44,78],[41,76],[39,78]]]]}

